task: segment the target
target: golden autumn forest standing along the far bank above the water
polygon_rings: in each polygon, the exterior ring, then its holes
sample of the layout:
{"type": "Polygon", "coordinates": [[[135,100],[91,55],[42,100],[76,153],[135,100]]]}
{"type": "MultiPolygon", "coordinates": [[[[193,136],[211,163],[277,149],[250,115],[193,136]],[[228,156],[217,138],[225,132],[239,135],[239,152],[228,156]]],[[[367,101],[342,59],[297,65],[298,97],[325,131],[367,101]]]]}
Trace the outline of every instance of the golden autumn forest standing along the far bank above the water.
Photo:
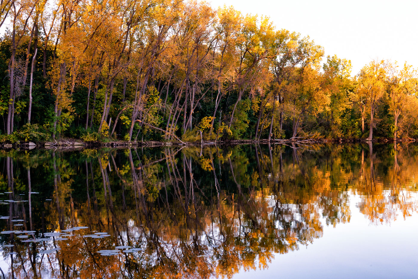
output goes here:
{"type": "Polygon", "coordinates": [[[0,142],[418,137],[407,62],[352,74],[268,17],[194,0],[0,1],[0,142]]]}

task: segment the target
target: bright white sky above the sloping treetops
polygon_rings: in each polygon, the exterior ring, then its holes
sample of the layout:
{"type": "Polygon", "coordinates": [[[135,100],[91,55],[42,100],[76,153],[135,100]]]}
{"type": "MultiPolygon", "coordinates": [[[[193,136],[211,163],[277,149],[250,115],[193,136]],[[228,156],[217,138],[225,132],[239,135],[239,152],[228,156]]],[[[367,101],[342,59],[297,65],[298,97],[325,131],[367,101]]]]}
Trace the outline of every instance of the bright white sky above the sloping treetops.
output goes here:
{"type": "Polygon", "coordinates": [[[352,75],[372,59],[418,67],[418,1],[208,0],[243,14],[270,17],[277,29],[296,31],[352,62],[352,75]]]}

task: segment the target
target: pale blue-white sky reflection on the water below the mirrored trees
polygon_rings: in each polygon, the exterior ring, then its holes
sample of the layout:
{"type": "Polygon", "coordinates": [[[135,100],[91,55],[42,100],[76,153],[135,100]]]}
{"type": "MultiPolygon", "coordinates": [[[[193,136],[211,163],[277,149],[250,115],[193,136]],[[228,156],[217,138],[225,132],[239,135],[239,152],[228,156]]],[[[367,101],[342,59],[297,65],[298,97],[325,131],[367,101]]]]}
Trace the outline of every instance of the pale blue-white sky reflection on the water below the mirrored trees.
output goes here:
{"type": "MultiPolygon", "coordinates": [[[[415,201],[417,192],[409,192],[415,201]]],[[[234,279],[254,278],[417,278],[418,214],[373,225],[350,194],[350,222],[324,225],[324,235],[297,251],[275,254],[268,269],[244,271],[234,279]]],[[[324,224],[324,218],[322,219],[324,224]]]]}

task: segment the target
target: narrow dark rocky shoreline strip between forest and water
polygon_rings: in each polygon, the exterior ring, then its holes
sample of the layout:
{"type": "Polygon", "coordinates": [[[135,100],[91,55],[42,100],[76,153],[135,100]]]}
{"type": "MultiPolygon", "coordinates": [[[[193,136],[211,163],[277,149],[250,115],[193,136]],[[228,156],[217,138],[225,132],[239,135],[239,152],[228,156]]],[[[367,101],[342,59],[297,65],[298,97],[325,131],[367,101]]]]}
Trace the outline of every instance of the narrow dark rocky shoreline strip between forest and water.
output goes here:
{"type": "MultiPolygon", "coordinates": [[[[398,139],[396,142],[416,142],[415,139],[398,139]]],[[[229,141],[198,141],[198,142],[160,142],[160,141],[145,141],[145,142],[127,142],[127,141],[112,141],[112,142],[83,142],[77,139],[61,139],[55,142],[17,142],[17,143],[0,143],[0,150],[11,149],[84,149],[84,148],[99,148],[99,147],[159,147],[159,146],[204,146],[204,145],[240,145],[240,144],[282,144],[282,145],[306,145],[318,143],[366,143],[364,139],[271,139],[265,140],[229,140],[229,141]]],[[[395,142],[393,139],[379,138],[372,142],[395,142]]]]}

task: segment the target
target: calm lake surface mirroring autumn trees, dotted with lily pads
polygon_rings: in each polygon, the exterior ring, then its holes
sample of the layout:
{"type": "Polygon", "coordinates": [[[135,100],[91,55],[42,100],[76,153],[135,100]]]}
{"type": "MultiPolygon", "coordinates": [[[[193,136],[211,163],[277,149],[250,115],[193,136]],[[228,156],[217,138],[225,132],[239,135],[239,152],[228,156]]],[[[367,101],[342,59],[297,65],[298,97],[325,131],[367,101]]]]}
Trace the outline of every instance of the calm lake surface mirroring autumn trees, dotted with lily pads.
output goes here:
{"type": "Polygon", "coordinates": [[[299,147],[0,151],[3,276],[417,278],[418,145],[299,147]]]}

